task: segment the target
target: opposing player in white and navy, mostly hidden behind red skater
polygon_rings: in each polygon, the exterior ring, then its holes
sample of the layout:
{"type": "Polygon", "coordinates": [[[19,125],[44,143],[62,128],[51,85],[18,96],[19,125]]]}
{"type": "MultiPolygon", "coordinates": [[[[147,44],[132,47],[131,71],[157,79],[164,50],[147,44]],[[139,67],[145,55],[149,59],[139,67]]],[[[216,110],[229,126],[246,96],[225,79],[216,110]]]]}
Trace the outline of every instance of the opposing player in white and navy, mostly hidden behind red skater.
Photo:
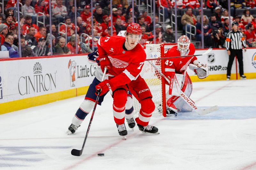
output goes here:
{"type": "MultiPolygon", "coordinates": [[[[120,31],[118,33],[118,36],[125,36],[125,31],[120,31]]],[[[84,101],[76,111],[76,114],[74,115],[72,119],[71,125],[68,127],[67,134],[73,134],[77,130],[77,128],[80,126],[80,124],[84,121],[84,118],[91,112],[93,109],[93,106],[95,104],[97,95],[95,94],[96,89],[95,86],[100,83],[100,80],[102,79],[103,73],[99,67],[99,63],[97,57],[99,56],[98,51],[88,54],[88,63],[92,64],[96,67],[95,70],[95,78],[92,81],[92,84],[89,86],[89,89],[85,95],[84,101]]],[[[108,76],[106,75],[104,79],[108,79],[108,76]]],[[[98,104],[101,105],[101,102],[104,99],[104,95],[100,96],[98,104]]],[[[130,91],[127,91],[127,102],[125,104],[125,118],[128,123],[128,126],[130,128],[134,128],[135,122],[133,119],[133,106],[132,106],[132,93],[130,91]]]]}

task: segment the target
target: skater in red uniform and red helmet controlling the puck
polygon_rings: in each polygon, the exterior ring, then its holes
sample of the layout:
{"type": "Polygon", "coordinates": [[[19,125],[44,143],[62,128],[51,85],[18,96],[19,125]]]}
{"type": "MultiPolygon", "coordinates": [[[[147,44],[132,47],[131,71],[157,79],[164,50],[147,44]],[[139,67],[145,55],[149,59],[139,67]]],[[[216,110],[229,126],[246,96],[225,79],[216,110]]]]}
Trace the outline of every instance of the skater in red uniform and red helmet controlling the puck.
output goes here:
{"type": "Polygon", "coordinates": [[[118,133],[127,135],[124,124],[127,90],[140,102],[139,117],[135,119],[143,133],[158,134],[155,126],[148,125],[155,104],[145,80],[140,77],[140,71],[146,60],[146,53],[139,43],[141,38],[139,24],[131,23],[126,28],[126,37],[101,37],[98,42],[99,61],[102,70],[108,68],[108,80],[96,86],[103,95],[112,91],[113,114],[118,133]]]}

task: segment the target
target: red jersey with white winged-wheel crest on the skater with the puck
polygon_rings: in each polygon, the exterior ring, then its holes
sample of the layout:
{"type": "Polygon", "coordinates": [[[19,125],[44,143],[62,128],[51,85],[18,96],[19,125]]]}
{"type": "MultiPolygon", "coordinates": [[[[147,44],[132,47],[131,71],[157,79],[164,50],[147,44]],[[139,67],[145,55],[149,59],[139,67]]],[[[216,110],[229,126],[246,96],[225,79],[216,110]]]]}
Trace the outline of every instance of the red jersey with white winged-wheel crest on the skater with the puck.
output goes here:
{"type": "Polygon", "coordinates": [[[125,85],[136,80],[146,60],[146,53],[140,44],[132,50],[123,49],[125,37],[101,37],[98,41],[99,57],[108,57],[111,69],[108,70],[113,86],[125,85]]]}

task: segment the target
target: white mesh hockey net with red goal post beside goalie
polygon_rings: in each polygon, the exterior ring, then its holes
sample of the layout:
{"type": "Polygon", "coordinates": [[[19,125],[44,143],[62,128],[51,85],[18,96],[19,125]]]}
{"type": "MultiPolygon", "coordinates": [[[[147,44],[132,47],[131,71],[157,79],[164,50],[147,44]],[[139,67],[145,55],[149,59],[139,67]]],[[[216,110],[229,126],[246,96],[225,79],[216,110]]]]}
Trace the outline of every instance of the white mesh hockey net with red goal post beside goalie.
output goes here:
{"type": "MultiPolygon", "coordinates": [[[[162,58],[169,48],[172,48],[176,44],[147,44],[145,52],[147,59],[162,58]]],[[[164,73],[164,60],[152,60],[158,70],[164,73]]],[[[140,76],[146,81],[150,92],[152,93],[152,100],[155,103],[155,110],[152,113],[153,116],[163,115],[166,117],[166,102],[165,102],[165,83],[164,78],[155,70],[155,68],[145,61],[144,66],[140,72],[140,76]]],[[[133,97],[134,114],[138,115],[140,111],[140,103],[133,97]]]]}

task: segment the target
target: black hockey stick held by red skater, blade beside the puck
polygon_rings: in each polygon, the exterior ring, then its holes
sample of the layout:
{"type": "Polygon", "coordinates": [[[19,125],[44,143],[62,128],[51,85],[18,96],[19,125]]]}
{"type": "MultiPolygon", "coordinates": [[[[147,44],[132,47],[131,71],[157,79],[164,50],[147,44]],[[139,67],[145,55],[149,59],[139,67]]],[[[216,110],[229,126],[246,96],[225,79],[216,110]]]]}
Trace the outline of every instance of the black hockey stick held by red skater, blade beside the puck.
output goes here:
{"type": "MultiPolygon", "coordinates": [[[[107,72],[107,67],[105,67],[105,69],[104,69],[104,73],[103,73],[101,82],[104,80],[105,75],[106,75],[106,72],[107,72]]],[[[71,154],[74,155],[74,156],[81,156],[82,153],[83,153],[84,145],[85,145],[85,142],[86,142],[86,139],[87,139],[89,130],[90,130],[90,128],[91,128],[92,118],[93,118],[93,115],[94,115],[94,113],[95,113],[95,109],[96,109],[96,107],[97,107],[97,103],[98,103],[98,100],[99,100],[99,97],[100,97],[100,93],[101,93],[101,91],[98,92],[98,95],[97,95],[97,98],[96,98],[96,101],[95,101],[95,105],[94,105],[94,108],[93,108],[93,111],[92,111],[91,120],[90,120],[89,125],[88,125],[88,129],[87,129],[87,132],[86,132],[86,135],[85,135],[85,138],[84,138],[84,144],[83,144],[83,146],[82,146],[82,149],[81,149],[81,150],[72,149],[71,154]]]]}

